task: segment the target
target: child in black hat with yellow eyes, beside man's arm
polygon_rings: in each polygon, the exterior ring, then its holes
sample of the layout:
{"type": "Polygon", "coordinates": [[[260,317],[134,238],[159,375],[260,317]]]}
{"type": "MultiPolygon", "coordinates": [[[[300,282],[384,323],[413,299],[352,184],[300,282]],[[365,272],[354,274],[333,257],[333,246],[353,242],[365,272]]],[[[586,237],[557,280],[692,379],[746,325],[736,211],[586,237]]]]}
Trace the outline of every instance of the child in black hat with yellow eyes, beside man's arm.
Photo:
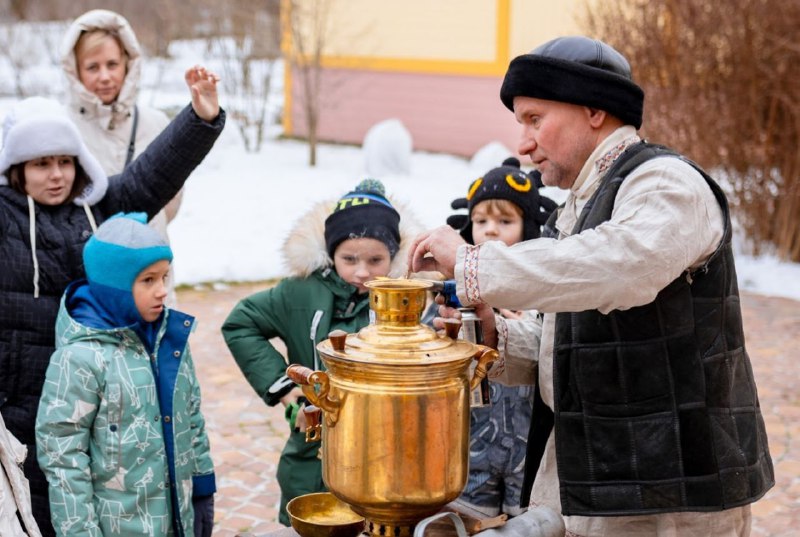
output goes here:
{"type": "MultiPolygon", "coordinates": [[[[471,244],[499,240],[511,246],[537,239],[556,207],[555,202],[539,195],[541,186],[537,172],[525,173],[519,160],[509,157],[473,181],[465,198],[453,201],[454,209],[466,208],[468,212],[450,216],[447,223],[471,244]]],[[[541,321],[535,311],[497,310],[495,320],[501,359],[490,369],[490,378],[503,375],[506,361],[535,361],[541,336],[541,321]],[[514,341],[530,346],[509,349],[509,331],[514,333],[514,341]]],[[[505,380],[512,386],[490,383],[491,405],[471,411],[470,468],[461,501],[487,516],[500,512],[516,516],[524,511],[519,504],[535,382],[535,369],[526,370],[531,371],[527,378],[505,380]]]]}

